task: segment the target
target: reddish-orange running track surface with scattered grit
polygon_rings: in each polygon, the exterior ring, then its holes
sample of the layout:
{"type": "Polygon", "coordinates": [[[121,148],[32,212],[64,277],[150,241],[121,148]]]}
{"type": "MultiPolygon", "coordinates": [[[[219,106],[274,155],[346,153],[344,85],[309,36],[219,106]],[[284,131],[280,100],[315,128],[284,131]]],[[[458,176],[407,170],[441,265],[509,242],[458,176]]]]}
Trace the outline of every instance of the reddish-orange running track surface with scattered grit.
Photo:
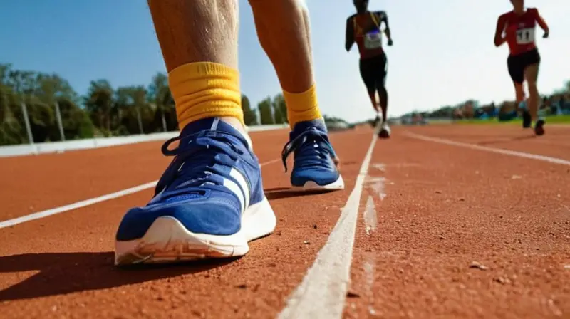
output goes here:
{"type": "MultiPolygon", "coordinates": [[[[278,224],[246,256],[113,266],[118,222],[147,188],[0,228],[1,317],[275,318],[356,186],[343,318],[570,318],[570,127],[333,132],[346,189],[304,195],[288,192],[286,138],[252,133],[278,224]]],[[[170,161],[160,145],[2,158],[0,221],[155,181],[170,161]]]]}

